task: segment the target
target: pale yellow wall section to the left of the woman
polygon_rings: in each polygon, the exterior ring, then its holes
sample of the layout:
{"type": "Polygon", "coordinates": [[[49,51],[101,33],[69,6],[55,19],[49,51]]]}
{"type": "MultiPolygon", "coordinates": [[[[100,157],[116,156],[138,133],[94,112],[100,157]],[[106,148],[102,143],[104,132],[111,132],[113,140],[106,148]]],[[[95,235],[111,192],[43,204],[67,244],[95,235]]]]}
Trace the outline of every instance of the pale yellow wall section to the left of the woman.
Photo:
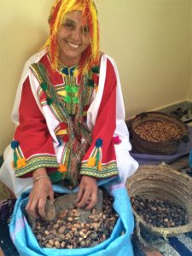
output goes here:
{"type": "Polygon", "coordinates": [[[10,143],[14,125],[10,120],[15,92],[25,61],[48,35],[51,0],[0,0],[0,154],[10,143]]]}

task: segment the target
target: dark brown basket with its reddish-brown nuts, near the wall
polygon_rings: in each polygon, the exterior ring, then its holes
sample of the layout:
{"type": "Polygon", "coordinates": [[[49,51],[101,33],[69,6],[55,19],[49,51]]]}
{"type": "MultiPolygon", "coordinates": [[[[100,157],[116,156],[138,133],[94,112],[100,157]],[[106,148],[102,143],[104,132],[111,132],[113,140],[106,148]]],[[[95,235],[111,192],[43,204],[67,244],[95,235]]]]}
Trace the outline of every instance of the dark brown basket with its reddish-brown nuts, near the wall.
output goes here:
{"type": "Polygon", "coordinates": [[[189,142],[187,126],[167,113],[144,112],[131,121],[134,147],[144,154],[173,154],[189,142]]]}

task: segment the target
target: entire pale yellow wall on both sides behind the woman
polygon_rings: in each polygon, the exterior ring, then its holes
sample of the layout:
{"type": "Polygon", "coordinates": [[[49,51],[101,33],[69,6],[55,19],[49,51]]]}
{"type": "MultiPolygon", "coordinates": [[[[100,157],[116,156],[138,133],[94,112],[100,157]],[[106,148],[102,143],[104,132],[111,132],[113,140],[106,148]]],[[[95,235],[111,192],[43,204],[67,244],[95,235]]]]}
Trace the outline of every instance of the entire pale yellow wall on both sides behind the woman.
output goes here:
{"type": "MultiPolygon", "coordinates": [[[[52,0],[1,2],[0,154],[11,141],[15,91],[26,59],[48,35],[52,0]]],[[[190,96],[191,1],[96,0],[101,49],[119,67],[126,116],[190,96]]]]}

